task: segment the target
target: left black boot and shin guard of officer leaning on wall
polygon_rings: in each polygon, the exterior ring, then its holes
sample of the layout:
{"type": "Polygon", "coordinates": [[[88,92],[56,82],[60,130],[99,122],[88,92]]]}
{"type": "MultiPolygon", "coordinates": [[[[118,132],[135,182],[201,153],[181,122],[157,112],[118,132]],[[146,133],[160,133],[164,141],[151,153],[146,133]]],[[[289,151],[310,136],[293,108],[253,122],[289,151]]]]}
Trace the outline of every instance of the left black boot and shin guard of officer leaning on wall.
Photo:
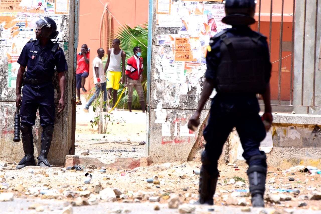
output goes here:
{"type": "Polygon", "coordinates": [[[19,164],[16,166],[16,169],[22,169],[26,166],[35,166],[35,158],[33,156],[33,135],[31,127],[28,127],[24,124],[21,124],[21,138],[22,138],[22,147],[24,151],[24,157],[21,159],[19,164]]]}

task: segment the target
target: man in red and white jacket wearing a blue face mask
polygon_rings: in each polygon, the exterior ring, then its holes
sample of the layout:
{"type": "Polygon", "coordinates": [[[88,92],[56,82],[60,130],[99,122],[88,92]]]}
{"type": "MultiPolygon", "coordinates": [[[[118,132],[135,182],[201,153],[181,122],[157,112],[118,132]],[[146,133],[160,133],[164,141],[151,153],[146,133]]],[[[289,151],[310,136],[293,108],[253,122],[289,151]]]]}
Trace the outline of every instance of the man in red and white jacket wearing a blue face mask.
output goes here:
{"type": "Polygon", "coordinates": [[[145,113],[144,90],[141,81],[143,80],[143,58],[140,47],[134,47],[134,56],[127,60],[125,72],[125,87],[128,87],[128,108],[132,112],[133,90],[137,91],[139,102],[141,103],[143,113],[145,113]]]}

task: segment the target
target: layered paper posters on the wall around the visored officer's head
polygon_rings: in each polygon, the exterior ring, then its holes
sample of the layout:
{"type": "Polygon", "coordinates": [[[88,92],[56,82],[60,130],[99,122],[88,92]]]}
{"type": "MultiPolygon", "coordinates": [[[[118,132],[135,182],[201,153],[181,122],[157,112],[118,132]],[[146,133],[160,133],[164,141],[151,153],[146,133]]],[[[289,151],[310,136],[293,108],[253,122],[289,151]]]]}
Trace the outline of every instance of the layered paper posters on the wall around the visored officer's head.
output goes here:
{"type": "Polygon", "coordinates": [[[57,23],[61,40],[62,15],[69,14],[69,0],[0,0],[0,42],[8,60],[7,87],[16,87],[19,64],[17,59],[29,40],[36,40],[35,29],[30,22],[36,16],[48,16],[57,23]]]}

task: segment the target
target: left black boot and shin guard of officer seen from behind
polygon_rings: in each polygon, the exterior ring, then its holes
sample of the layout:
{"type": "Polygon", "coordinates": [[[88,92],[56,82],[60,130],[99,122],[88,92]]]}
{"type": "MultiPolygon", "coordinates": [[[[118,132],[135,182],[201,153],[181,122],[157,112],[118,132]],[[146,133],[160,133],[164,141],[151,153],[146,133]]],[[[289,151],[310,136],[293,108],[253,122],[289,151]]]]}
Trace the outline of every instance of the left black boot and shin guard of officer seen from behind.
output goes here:
{"type": "Polygon", "coordinates": [[[208,204],[213,205],[213,196],[216,190],[216,183],[219,176],[218,171],[213,170],[213,163],[207,158],[206,151],[204,150],[201,155],[202,167],[200,172],[200,183],[198,192],[200,194],[199,200],[194,204],[208,204]]]}

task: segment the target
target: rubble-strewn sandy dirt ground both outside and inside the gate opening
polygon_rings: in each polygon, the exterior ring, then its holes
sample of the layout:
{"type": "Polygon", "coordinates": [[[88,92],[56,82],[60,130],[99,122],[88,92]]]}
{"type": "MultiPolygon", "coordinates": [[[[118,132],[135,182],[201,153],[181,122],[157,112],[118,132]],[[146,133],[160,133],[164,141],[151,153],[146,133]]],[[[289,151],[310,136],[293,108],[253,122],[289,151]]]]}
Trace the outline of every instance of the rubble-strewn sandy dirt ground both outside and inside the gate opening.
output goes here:
{"type": "MultiPolygon", "coordinates": [[[[146,155],[146,145],[139,145],[139,142],[146,139],[146,114],[141,111],[132,113],[126,110],[113,111],[111,120],[115,121],[114,124],[108,125],[108,133],[98,134],[96,128],[91,127],[90,121],[94,117],[92,108],[89,113],[84,113],[83,107],[84,102],[81,106],[77,106],[76,110],[76,155],[88,150],[89,156],[99,156],[104,163],[113,162],[115,157],[119,156],[146,155]],[[103,141],[108,143],[91,145],[91,143],[103,141]]],[[[1,162],[3,163],[0,160],[1,162]]],[[[199,175],[193,174],[193,170],[198,171],[200,164],[200,162],[152,164],[132,171],[108,168],[106,173],[102,173],[100,169],[91,169],[86,166],[82,171],[65,170],[60,167],[26,167],[15,170],[15,165],[7,163],[6,167],[0,167],[0,198],[3,192],[12,192],[17,198],[52,198],[62,201],[75,201],[79,198],[88,198],[90,195],[99,203],[103,201],[100,199],[99,191],[97,192],[97,188],[101,186],[100,189],[119,190],[123,195],[117,197],[117,202],[133,202],[134,199],[148,201],[151,196],[159,196],[159,203],[165,204],[174,193],[179,195],[182,203],[189,203],[198,198],[199,175]],[[33,173],[30,173],[31,169],[33,173]],[[85,173],[92,175],[91,182],[88,184],[84,183],[87,179],[84,176],[85,173]],[[147,183],[146,178],[152,178],[154,175],[158,176],[158,180],[147,183]],[[41,191],[47,191],[47,193],[41,194],[41,191]],[[86,191],[89,191],[89,194],[84,195],[86,191]]],[[[215,205],[230,205],[229,198],[235,198],[237,201],[245,199],[243,206],[251,206],[251,200],[248,197],[247,166],[222,164],[219,165],[219,170],[220,177],[214,196],[215,205]]],[[[321,201],[309,199],[314,191],[321,196],[320,181],[320,174],[287,173],[285,169],[277,166],[268,166],[266,207],[321,210],[321,201]],[[294,178],[294,181],[290,181],[289,178],[294,178]],[[299,189],[300,193],[292,192],[293,189],[299,189]],[[283,200],[278,202],[269,202],[271,195],[280,194],[287,197],[282,196],[283,200]]],[[[231,206],[239,205],[232,203],[231,206]]]]}

